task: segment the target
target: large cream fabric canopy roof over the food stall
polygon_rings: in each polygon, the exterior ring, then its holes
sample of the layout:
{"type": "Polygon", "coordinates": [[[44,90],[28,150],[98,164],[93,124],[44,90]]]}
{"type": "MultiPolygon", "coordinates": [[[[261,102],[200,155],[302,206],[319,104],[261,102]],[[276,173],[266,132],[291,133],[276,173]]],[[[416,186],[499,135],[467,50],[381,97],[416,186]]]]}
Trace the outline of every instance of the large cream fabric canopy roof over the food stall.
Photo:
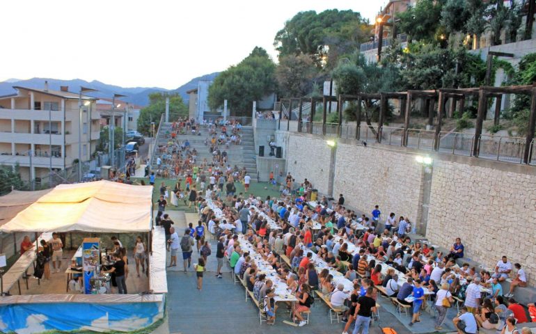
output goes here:
{"type": "Polygon", "coordinates": [[[152,186],[62,184],[0,227],[2,232],[148,232],[152,186]]]}

